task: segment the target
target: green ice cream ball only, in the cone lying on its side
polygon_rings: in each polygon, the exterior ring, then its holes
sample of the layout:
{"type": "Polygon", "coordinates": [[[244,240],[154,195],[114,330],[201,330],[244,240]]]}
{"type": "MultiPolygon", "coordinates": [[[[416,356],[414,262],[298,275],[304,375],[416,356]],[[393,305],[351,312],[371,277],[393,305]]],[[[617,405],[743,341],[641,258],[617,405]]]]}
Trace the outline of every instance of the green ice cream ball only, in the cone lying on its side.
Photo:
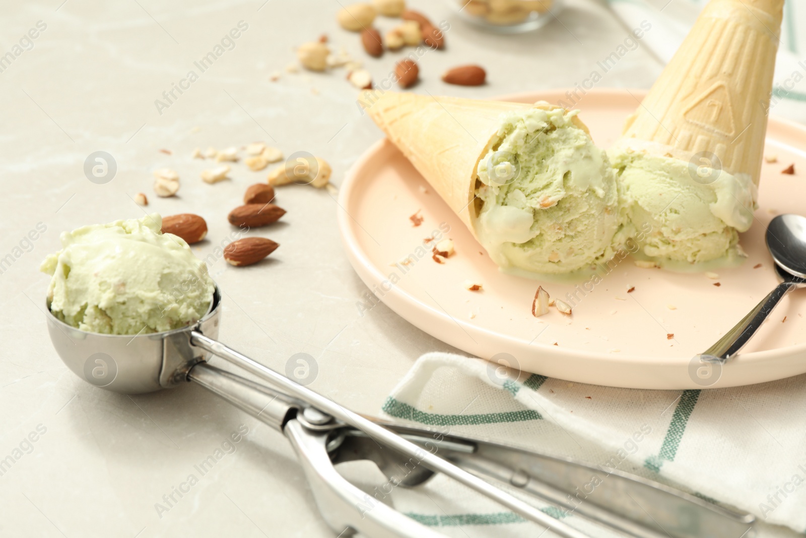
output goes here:
{"type": "Polygon", "coordinates": [[[616,177],[576,111],[505,113],[480,160],[476,231],[502,269],[570,273],[613,256],[616,177]]]}

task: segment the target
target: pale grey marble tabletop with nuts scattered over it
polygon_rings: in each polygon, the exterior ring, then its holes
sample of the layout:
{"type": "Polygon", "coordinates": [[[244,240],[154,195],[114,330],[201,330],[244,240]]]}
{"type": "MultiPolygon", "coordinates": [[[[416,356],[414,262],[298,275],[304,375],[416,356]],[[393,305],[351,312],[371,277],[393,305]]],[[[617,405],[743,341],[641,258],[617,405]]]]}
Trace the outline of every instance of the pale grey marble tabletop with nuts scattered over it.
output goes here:
{"type": "MultiPolygon", "coordinates": [[[[411,5],[451,22],[447,50],[420,61],[414,90],[434,95],[573,87],[627,36],[593,0],[571,0],[542,31],[511,36],[467,26],[441,2],[411,5]],[[467,63],[488,70],[488,85],[442,83],[444,69],[467,63]]],[[[12,256],[0,269],[0,536],[334,536],[289,444],[256,419],[197,386],[129,397],[73,375],[48,339],[48,277],[38,268],[59,248],[60,231],[142,216],[138,192],[151,201],[147,211],[204,216],[210,234],[194,250],[213,252],[234,230],[227,212],[265,172],[234,165],[231,181],[210,186],[198,178],[210,161],[192,160],[193,148],[260,140],[286,155],[311,152],[330,162],[339,186],[381,134],[360,114],[343,69],[285,73],[293,48],[325,33],[376,79],[403,52],[369,58],[358,36],[338,27],[338,10],[338,0],[4,2],[0,53],[20,53],[0,63],[0,258],[12,256]],[[248,27],[234,48],[200,73],[193,62],[239,21],[248,27]],[[198,80],[158,111],[155,100],[191,69],[198,80]],[[270,80],[275,71],[279,81],[270,80]],[[95,151],[116,162],[106,184],[85,177],[95,151]],[[177,198],[153,194],[152,170],[161,167],[180,173],[177,198]],[[25,240],[38,227],[44,232],[25,240]],[[247,435],[225,444],[239,428],[247,435]],[[222,444],[214,469],[158,510],[222,444]]],[[[598,85],[648,88],[660,69],[638,48],[598,85]]],[[[452,348],[382,304],[359,315],[367,288],[344,255],[331,194],[289,186],[277,202],[288,211],[282,223],[251,232],[280,243],[272,261],[210,267],[225,294],[220,337],[280,370],[309,353],[318,365],[311,388],[377,414],[418,356],[452,348]]]]}

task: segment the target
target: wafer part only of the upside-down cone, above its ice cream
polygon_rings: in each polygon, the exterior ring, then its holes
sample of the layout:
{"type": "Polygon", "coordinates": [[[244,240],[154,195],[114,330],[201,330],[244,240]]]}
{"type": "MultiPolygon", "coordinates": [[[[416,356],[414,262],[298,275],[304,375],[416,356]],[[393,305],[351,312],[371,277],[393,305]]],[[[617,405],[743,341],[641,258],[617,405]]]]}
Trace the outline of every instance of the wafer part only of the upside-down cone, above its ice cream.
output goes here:
{"type": "Polygon", "coordinates": [[[620,144],[683,161],[704,152],[758,186],[782,12],[783,0],[711,0],[620,144]]]}

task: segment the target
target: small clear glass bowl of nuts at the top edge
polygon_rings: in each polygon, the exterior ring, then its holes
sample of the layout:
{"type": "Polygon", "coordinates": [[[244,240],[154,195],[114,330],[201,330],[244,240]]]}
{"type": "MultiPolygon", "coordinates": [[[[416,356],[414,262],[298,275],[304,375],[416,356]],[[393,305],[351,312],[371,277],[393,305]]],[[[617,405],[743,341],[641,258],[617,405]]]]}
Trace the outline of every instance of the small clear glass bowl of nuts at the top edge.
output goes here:
{"type": "Polygon", "coordinates": [[[563,9],[563,0],[446,0],[463,19],[489,31],[536,30],[563,9]]]}

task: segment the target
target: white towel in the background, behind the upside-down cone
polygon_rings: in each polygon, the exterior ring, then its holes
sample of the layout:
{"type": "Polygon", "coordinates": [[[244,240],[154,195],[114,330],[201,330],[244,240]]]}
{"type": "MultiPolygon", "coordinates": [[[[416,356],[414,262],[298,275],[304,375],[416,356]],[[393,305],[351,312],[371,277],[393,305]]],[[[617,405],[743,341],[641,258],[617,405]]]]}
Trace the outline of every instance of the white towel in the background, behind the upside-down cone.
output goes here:
{"type": "MultiPolygon", "coordinates": [[[[628,30],[646,28],[641,46],[664,65],[708,0],[607,0],[628,30]],[[644,23],[642,25],[642,23],[644,23]]],[[[771,114],[806,123],[806,2],[787,0],[775,62],[771,114]],[[799,31],[800,29],[800,31],[799,31]]]]}

